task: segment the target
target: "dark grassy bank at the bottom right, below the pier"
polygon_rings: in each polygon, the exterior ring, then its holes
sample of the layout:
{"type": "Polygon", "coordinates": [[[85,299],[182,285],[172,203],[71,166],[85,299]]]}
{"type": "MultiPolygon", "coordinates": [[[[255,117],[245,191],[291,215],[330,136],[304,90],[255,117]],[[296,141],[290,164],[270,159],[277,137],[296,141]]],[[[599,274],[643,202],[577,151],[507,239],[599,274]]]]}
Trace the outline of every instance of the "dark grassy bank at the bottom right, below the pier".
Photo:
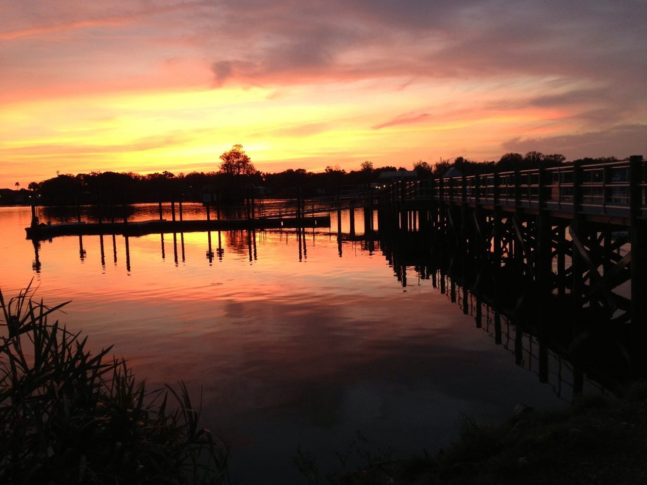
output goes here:
{"type": "Polygon", "coordinates": [[[642,485],[647,383],[634,383],[619,399],[582,396],[563,411],[524,411],[499,426],[463,416],[459,438],[437,455],[369,460],[353,471],[328,473],[321,482],[314,458],[305,463],[309,467],[299,468],[310,484],[642,485]]]}

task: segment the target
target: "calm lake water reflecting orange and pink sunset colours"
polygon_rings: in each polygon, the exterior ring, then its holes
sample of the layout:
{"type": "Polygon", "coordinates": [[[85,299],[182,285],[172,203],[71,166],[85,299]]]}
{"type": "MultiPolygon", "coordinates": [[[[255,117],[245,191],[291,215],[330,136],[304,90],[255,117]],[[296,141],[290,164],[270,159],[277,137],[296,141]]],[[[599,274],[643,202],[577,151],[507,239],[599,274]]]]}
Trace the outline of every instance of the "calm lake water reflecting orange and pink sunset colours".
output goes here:
{"type": "MultiPolygon", "coordinates": [[[[155,219],[157,205],[130,217],[155,219]]],[[[184,217],[204,210],[185,204],[184,217]]],[[[495,345],[414,268],[403,287],[378,244],[344,241],[340,255],[329,228],[301,241],[294,231],[212,232],[212,261],[208,233],[130,237],[128,254],[120,235],[57,237],[40,243],[37,268],[29,223],[29,208],[0,208],[5,297],[33,278],[46,303],[72,300],[58,318],[94,349],[115,344],[151,385],[184,380],[196,399],[202,389],[203,426],[230,444],[243,483],[303,483],[299,447],[326,471],[357,430],[397,455],[435,453],[457,436],[461,413],[494,423],[519,403],[570,398],[567,386],[556,394],[555,358],[553,382],[540,383],[531,358],[515,365],[505,340],[495,345]]]]}

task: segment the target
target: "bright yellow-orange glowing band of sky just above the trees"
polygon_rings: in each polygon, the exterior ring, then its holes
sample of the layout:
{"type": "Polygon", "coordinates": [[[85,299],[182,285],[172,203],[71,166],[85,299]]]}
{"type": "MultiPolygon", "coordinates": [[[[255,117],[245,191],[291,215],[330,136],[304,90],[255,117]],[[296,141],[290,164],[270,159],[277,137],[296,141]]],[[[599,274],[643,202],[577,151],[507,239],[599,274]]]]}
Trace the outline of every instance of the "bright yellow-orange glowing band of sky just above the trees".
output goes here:
{"type": "Polygon", "coordinates": [[[439,156],[457,156],[446,143],[454,138],[448,133],[470,135],[472,145],[487,145],[484,127],[507,127],[512,135],[515,126],[527,133],[529,125],[568,116],[538,108],[496,113],[483,107],[491,96],[486,89],[466,94],[461,103],[447,103],[451,87],[446,85],[394,94],[357,84],[291,92],[260,87],[113,92],[16,102],[0,114],[12,133],[1,152],[10,164],[38,163],[42,171],[33,177],[39,180],[56,170],[213,171],[219,154],[236,142],[261,171],[304,166],[320,171],[327,165],[356,169],[367,158],[375,166],[410,167],[430,154],[403,149],[396,140],[433,146],[439,156]],[[426,109],[421,109],[421,98],[426,109]],[[375,100],[380,104],[372,105],[375,100]],[[411,114],[399,117],[406,107],[411,114]],[[34,126],[36,120],[41,121],[34,126]],[[378,120],[385,122],[379,125],[378,120]],[[394,159],[399,154],[410,160],[394,159]]]}

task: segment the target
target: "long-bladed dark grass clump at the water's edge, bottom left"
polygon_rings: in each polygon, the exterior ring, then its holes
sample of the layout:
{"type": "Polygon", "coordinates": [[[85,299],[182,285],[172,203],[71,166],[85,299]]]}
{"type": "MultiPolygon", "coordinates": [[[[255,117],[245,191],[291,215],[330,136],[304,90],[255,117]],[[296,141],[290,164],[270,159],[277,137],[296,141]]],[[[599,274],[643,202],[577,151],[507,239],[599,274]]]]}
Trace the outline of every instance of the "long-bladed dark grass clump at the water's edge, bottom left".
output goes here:
{"type": "Polygon", "coordinates": [[[183,383],[148,391],[111,347],[93,355],[48,322],[66,303],[31,296],[0,292],[1,483],[228,482],[228,450],[199,428],[183,383]]]}

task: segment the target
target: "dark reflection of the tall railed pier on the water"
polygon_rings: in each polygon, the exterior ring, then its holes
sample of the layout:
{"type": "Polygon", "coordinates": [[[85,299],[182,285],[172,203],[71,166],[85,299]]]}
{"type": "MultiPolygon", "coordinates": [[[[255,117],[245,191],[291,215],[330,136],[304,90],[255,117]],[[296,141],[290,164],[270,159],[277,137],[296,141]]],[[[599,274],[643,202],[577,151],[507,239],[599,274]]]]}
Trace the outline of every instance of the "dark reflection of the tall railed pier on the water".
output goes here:
{"type": "MultiPolygon", "coordinates": [[[[452,268],[448,261],[443,264],[430,250],[424,235],[409,232],[384,236],[380,248],[402,287],[430,281],[448,301],[471,315],[476,327],[484,329],[496,345],[512,352],[517,365],[534,372],[540,382],[549,383],[561,398],[569,400],[603,386],[612,389],[631,375],[630,362],[620,351],[619,339],[600,338],[599,329],[591,329],[584,338],[573,338],[570,326],[542,321],[534,307],[497,306],[492,288],[475,289],[461,283],[469,281],[462,279],[461,268],[452,268]]],[[[524,289],[514,285],[507,288],[515,295],[524,289]]],[[[566,312],[562,320],[567,319],[566,312]]],[[[602,337],[608,334],[602,332],[602,337]]]]}

